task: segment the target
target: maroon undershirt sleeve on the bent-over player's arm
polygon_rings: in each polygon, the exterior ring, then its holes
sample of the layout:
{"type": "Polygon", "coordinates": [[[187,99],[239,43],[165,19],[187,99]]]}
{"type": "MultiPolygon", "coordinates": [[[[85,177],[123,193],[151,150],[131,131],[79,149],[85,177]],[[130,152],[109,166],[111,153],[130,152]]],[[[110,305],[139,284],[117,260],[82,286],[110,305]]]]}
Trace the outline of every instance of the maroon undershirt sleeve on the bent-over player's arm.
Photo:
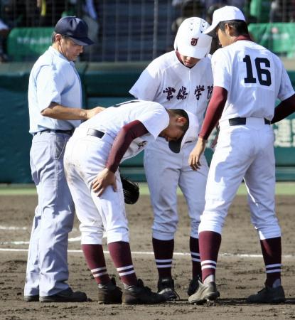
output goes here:
{"type": "Polygon", "coordinates": [[[107,169],[115,173],[132,141],[147,133],[149,133],[148,130],[139,120],[125,124],[114,139],[114,144],[107,159],[107,169]]]}

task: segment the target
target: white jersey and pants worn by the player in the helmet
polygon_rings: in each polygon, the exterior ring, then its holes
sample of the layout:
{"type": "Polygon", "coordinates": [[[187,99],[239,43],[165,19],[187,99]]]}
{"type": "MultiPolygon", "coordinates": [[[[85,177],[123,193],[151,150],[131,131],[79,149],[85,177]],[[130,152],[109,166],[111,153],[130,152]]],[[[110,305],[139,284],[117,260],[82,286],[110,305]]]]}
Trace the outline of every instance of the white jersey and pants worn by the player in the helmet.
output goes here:
{"type": "Polygon", "coordinates": [[[193,171],[188,166],[188,156],[195,145],[213,90],[210,68],[210,58],[203,58],[193,68],[187,68],[178,60],[176,51],[171,51],[152,61],[129,91],[136,98],[192,112],[198,119],[195,137],[178,154],[171,151],[168,143],[160,137],[144,151],[144,169],[154,209],[153,238],[159,240],[174,238],[178,224],[177,186],[188,203],[191,236],[198,238],[208,164],[203,156],[202,169],[193,171]]]}

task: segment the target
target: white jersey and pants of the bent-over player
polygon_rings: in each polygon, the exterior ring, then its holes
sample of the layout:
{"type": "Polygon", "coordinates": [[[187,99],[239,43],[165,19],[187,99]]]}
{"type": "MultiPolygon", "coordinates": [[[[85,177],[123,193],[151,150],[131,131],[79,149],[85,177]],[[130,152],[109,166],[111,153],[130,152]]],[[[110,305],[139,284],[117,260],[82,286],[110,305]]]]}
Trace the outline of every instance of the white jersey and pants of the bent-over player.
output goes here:
{"type": "MultiPolygon", "coordinates": [[[[144,124],[149,134],[134,139],[122,161],[138,154],[169,124],[168,112],[159,103],[134,100],[119,107],[109,107],[80,124],[66,146],[65,172],[77,218],[80,220],[82,244],[102,244],[104,229],[108,243],[129,242],[119,171],[115,173],[117,192],[109,186],[102,196],[97,197],[92,191],[91,183],[105,168],[112,144],[120,129],[134,120],[144,124]],[[87,134],[89,129],[104,133],[103,137],[87,134]]],[[[189,130],[187,132],[189,133],[189,130]]],[[[190,139],[189,134],[186,134],[186,137],[190,139]]]]}

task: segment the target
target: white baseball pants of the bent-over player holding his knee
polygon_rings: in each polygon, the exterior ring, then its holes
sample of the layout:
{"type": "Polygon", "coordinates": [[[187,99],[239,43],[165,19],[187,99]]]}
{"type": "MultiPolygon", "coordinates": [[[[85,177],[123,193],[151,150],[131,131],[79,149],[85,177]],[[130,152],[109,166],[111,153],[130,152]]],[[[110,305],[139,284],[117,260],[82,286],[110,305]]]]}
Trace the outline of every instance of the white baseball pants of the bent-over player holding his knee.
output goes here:
{"type": "Polygon", "coordinates": [[[80,220],[81,243],[101,245],[105,230],[107,242],[129,242],[124,194],[119,171],[115,173],[117,192],[109,186],[98,197],[91,189],[97,174],[105,168],[113,139],[107,134],[87,136],[87,129],[78,128],[65,149],[65,174],[80,220]]]}

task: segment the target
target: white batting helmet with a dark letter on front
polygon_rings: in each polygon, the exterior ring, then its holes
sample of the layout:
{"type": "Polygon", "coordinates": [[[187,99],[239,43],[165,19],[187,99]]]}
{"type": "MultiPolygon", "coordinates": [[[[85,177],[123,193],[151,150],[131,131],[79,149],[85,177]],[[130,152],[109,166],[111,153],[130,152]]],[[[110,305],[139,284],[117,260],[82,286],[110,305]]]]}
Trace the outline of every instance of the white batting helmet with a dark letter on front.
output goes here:
{"type": "Polygon", "coordinates": [[[202,18],[187,18],[178,28],[174,49],[191,58],[204,58],[210,52],[212,37],[204,33],[210,24],[202,18]]]}

